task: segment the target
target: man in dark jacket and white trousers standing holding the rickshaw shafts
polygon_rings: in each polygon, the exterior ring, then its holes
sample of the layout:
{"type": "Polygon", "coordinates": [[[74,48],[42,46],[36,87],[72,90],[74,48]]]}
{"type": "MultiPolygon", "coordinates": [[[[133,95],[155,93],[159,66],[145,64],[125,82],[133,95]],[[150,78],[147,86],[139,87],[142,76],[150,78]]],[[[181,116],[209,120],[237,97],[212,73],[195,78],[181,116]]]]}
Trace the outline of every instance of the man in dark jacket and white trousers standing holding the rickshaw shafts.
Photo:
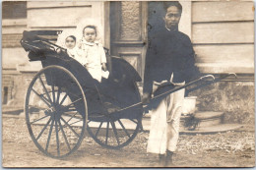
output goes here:
{"type": "MultiPolygon", "coordinates": [[[[182,6],[163,2],[165,26],[151,36],[146,56],[143,102],[149,102],[154,82],[185,85],[196,73],[190,38],[178,30],[182,6]]],[[[169,94],[152,110],[148,152],[160,155],[160,166],[170,166],[179,136],[179,120],[185,89],[169,94]]]]}

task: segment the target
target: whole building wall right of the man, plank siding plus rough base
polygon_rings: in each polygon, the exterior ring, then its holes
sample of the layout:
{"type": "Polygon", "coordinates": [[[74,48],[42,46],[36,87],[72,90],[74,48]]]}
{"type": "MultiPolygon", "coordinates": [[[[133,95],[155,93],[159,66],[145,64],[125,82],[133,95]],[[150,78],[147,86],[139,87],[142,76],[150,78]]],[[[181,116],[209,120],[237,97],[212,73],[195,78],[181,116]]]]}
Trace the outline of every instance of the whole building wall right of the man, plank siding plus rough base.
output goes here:
{"type": "Polygon", "coordinates": [[[249,1],[193,1],[192,42],[206,74],[237,73],[194,91],[201,111],[223,111],[225,123],[254,123],[254,4],[249,1]]]}

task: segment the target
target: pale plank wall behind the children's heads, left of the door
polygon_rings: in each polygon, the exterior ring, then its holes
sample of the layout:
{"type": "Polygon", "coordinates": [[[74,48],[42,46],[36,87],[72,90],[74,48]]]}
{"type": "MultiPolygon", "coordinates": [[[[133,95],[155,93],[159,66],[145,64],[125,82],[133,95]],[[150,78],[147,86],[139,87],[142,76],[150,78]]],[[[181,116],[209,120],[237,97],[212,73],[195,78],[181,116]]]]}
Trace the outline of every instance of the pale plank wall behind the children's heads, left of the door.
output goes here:
{"type": "MultiPolygon", "coordinates": [[[[84,20],[96,20],[102,27],[100,40],[109,47],[105,38],[108,38],[109,26],[105,22],[107,3],[102,1],[40,1],[28,2],[28,28],[31,29],[74,29],[84,20]]],[[[109,38],[107,39],[109,40],[109,38]]]]}

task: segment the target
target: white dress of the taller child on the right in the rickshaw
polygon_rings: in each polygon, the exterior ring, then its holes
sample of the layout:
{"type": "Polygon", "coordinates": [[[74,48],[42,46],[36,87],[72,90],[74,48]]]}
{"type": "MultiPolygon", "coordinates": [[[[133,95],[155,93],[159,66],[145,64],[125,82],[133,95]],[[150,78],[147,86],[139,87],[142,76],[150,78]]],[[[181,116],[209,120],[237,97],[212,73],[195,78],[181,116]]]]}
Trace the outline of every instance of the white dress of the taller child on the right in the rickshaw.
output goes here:
{"type": "Polygon", "coordinates": [[[105,52],[102,45],[98,42],[88,42],[81,40],[80,44],[80,63],[86,66],[88,72],[99,83],[101,82],[101,64],[106,63],[105,52]]]}

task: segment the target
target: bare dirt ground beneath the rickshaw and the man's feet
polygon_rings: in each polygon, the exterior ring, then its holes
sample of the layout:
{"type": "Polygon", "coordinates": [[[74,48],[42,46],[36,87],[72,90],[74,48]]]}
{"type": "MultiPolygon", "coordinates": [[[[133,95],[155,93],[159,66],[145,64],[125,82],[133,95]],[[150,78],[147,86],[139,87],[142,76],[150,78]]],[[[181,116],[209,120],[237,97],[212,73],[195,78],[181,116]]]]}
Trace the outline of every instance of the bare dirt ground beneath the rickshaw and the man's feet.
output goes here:
{"type": "MultiPolygon", "coordinates": [[[[3,167],[158,167],[158,155],[146,152],[149,134],[141,132],[128,146],[112,150],[87,137],[64,159],[53,159],[33,144],[25,118],[2,117],[3,167]]],[[[252,167],[254,132],[180,135],[175,167],[252,167]]]]}

